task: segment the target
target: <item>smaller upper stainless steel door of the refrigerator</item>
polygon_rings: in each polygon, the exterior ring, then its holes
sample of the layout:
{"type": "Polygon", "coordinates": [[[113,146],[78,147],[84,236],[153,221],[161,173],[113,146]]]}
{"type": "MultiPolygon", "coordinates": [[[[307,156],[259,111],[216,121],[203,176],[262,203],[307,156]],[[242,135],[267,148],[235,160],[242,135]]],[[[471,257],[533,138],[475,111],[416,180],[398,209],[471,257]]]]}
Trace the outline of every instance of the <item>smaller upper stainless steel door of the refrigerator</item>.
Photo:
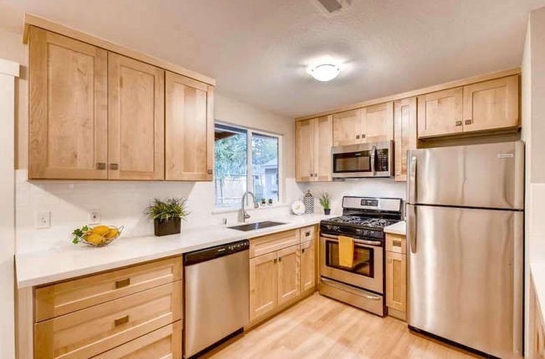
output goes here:
{"type": "Polygon", "coordinates": [[[460,207],[524,207],[524,143],[414,149],[407,202],[460,207]]]}

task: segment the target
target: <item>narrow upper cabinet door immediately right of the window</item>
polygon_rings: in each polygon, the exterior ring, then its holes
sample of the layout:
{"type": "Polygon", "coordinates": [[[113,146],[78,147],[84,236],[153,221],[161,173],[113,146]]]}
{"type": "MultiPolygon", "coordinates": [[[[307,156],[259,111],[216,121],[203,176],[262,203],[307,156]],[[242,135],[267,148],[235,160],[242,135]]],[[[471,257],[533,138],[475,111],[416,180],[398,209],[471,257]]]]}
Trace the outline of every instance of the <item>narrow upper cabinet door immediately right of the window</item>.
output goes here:
{"type": "Polygon", "coordinates": [[[296,122],[296,180],[311,182],[314,178],[314,119],[296,122]],[[312,176],[311,176],[312,175],[312,176]]]}

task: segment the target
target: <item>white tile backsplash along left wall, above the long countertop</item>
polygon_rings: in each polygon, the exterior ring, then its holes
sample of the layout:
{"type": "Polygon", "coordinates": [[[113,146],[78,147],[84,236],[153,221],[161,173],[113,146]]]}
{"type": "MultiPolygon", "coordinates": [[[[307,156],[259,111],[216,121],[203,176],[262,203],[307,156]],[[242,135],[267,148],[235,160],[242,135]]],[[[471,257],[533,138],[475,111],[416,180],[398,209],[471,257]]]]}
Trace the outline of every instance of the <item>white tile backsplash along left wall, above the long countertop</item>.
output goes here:
{"type": "MultiPolygon", "coordinates": [[[[237,221],[237,212],[212,214],[214,185],[212,182],[113,182],[113,181],[41,181],[28,182],[26,170],[16,170],[16,224],[18,253],[47,250],[66,245],[76,226],[89,221],[89,210],[101,212],[101,222],[124,225],[126,236],[149,235],[153,223],[144,214],[152,198],[187,198],[189,217],[182,227],[219,225],[237,221]],[[51,227],[36,229],[36,212],[51,212],[51,227]]],[[[250,210],[252,220],[283,217],[289,205],[302,196],[304,185],[287,178],[284,185],[286,205],[250,210]]]]}

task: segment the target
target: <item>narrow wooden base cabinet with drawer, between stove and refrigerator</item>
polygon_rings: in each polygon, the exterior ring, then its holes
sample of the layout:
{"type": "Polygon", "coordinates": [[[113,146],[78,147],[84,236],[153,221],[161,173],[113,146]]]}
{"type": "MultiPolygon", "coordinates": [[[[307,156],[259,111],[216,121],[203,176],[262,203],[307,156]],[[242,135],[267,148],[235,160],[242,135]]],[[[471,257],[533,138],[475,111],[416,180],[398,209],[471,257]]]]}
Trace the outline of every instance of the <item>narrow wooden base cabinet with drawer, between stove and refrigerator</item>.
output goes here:
{"type": "Polygon", "coordinates": [[[386,306],[388,314],[405,320],[407,312],[407,253],[405,236],[386,234],[386,306]]]}

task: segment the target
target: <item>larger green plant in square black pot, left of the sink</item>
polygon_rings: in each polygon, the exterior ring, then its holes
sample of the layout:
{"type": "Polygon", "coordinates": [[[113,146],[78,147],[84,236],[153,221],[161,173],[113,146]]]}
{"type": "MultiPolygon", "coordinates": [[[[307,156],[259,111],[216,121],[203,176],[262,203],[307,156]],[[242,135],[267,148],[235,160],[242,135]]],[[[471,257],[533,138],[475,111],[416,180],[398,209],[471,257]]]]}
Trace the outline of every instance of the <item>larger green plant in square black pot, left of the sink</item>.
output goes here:
{"type": "Polygon", "coordinates": [[[182,219],[185,221],[189,212],[185,198],[169,198],[159,200],[155,198],[146,207],[146,214],[154,221],[155,235],[173,235],[180,233],[182,219]]]}

